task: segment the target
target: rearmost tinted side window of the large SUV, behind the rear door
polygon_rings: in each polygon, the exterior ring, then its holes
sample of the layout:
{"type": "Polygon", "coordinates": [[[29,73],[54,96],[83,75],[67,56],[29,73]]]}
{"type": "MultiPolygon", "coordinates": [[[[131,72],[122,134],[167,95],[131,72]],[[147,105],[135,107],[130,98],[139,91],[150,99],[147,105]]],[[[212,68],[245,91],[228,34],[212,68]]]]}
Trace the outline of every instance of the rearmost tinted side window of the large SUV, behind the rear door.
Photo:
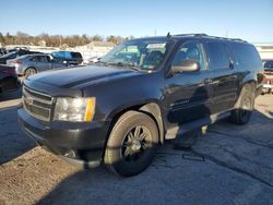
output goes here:
{"type": "Polygon", "coordinates": [[[239,64],[261,65],[261,59],[254,46],[241,43],[232,43],[232,50],[239,64]]]}

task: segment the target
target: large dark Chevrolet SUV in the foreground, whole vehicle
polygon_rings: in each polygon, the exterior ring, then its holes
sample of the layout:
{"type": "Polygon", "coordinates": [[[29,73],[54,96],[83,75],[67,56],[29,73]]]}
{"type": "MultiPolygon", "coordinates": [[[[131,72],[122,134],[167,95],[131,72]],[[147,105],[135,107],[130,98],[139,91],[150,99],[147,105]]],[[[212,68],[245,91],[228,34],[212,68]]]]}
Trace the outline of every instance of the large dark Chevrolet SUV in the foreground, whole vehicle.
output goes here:
{"type": "Polygon", "coordinates": [[[28,77],[19,123],[68,161],[133,176],[167,140],[228,116],[247,123],[262,72],[254,46],[240,39],[133,39],[95,65],[28,77]]]}

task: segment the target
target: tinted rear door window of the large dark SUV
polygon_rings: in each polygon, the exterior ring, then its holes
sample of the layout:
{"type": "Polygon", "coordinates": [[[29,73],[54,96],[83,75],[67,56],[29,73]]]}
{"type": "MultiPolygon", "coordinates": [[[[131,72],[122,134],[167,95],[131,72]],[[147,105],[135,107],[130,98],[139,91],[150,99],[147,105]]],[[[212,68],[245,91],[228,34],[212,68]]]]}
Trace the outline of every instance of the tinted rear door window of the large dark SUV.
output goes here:
{"type": "Polygon", "coordinates": [[[218,41],[207,43],[207,51],[212,69],[229,68],[227,50],[223,43],[218,41]]]}

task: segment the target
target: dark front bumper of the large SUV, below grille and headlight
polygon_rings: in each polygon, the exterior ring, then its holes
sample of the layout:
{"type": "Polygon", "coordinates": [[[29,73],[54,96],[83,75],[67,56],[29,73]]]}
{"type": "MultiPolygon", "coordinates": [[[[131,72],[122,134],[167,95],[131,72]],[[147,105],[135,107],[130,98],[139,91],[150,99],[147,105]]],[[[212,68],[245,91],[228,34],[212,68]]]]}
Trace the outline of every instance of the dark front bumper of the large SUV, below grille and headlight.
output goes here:
{"type": "Polygon", "coordinates": [[[17,110],[21,129],[38,145],[45,146],[70,164],[97,167],[104,155],[107,122],[43,122],[17,110]]]}

